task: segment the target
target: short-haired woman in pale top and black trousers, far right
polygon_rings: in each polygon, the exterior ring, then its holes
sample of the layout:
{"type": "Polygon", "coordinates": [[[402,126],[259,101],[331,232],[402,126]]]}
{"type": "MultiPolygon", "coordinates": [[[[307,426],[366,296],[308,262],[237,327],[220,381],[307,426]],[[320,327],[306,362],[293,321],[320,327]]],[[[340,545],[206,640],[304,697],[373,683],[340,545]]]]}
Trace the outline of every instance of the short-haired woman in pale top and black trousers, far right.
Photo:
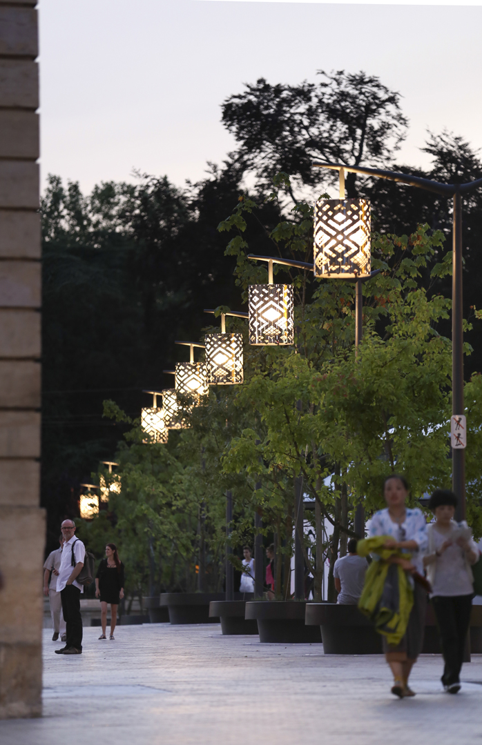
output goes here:
{"type": "Polygon", "coordinates": [[[435,522],[428,526],[424,564],[432,586],[431,601],[445,661],[442,685],[449,694],[457,694],[474,594],[471,565],[479,554],[467,523],[454,522],[454,492],[436,489],[428,507],[435,522]]]}

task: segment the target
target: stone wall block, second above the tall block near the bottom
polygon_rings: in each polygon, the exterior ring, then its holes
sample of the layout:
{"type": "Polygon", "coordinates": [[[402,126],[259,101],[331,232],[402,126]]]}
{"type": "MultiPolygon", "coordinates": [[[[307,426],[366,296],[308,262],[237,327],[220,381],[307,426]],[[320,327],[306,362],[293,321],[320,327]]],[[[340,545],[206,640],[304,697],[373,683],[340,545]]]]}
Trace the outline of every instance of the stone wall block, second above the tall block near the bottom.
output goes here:
{"type": "Polygon", "coordinates": [[[0,457],[40,458],[40,413],[0,410],[0,457]]]}

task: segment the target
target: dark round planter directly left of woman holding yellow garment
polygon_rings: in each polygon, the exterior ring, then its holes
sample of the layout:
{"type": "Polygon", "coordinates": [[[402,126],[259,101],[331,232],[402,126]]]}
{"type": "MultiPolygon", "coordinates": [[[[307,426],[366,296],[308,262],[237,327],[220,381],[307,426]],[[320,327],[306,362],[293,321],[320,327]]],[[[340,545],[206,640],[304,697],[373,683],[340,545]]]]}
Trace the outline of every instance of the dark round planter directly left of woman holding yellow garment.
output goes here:
{"type": "Polygon", "coordinates": [[[357,606],[308,603],[307,626],[319,626],[324,654],[381,654],[381,635],[357,606]]]}

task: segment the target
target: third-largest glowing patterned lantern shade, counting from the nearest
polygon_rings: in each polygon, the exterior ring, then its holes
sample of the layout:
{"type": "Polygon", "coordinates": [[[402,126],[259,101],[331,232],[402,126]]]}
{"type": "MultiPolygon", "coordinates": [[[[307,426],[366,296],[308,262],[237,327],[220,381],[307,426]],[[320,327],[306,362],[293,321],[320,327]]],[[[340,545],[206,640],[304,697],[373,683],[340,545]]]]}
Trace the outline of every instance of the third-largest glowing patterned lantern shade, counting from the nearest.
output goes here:
{"type": "Polygon", "coordinates": [[[207,383],[242,383],[242,334],[207,334],[204,343],[207,383]]]}

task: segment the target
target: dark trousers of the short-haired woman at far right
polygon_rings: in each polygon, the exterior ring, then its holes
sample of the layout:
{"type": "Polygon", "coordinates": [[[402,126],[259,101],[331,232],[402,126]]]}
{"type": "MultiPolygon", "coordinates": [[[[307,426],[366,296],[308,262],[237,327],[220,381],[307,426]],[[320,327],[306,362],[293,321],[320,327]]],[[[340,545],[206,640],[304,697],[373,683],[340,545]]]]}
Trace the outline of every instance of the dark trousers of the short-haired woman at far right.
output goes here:
{"type": "Polygon", "coordinates": [[[463,650],[469,630],[472,595],[455,597],[432,597],[432,605],[439,627],[442,654],[445,668],[442,675],[443,685],[459,682],[463,663],[463,650]]]}

